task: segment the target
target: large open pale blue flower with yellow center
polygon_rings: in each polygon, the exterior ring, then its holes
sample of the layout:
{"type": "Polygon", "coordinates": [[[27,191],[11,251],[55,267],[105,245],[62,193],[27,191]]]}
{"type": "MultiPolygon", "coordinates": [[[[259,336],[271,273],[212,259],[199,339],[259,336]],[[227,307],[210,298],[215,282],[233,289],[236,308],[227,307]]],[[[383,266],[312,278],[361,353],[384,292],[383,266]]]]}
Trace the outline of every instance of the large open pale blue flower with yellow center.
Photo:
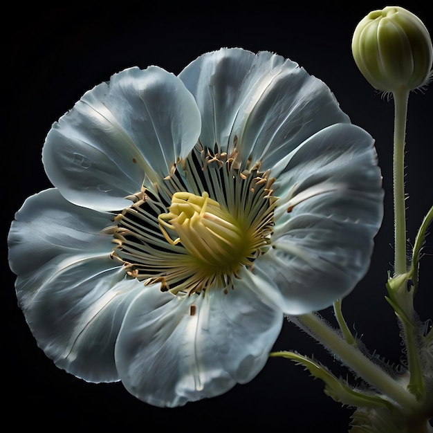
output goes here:
{"type": "Polygon", "coordinates": [[[371,136],[268,52],[117,73],[55,122],[42,160],[55,187],[8,236],[19,305],[57,367],[151,405],[252,380],[284,315],[365,275],[382,219],[371,136]]]}

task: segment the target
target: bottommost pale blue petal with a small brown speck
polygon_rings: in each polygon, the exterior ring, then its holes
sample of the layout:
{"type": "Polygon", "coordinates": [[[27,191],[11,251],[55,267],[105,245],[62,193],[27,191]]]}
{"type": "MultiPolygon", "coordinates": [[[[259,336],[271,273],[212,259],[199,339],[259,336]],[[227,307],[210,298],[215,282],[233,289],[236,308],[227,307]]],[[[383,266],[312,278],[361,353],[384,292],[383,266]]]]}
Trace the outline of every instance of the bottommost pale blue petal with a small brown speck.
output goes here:
{"type": "Polygon", "coordinates": [[[162,296],[143,291],[116,344],[122,383],[151,405],[174,407],[217,396],[264,367],[282,327],[279,308],[241,283],[226,295],[162,296]]]}

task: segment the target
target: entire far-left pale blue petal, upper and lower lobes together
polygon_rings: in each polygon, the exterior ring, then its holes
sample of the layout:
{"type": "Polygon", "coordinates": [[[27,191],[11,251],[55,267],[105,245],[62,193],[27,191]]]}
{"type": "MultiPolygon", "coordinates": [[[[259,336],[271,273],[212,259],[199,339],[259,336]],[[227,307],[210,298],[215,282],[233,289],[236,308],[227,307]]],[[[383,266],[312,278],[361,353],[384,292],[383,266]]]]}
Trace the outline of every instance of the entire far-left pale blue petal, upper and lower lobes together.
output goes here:
{"type": "Polygon", "coordinates": [[[89,381],[118,380],[114,344],[133,288],[100,234],[108,214],[68,203],[57,190],[26,200],[8,244],[17,298],[57,367],[89,381]]]}

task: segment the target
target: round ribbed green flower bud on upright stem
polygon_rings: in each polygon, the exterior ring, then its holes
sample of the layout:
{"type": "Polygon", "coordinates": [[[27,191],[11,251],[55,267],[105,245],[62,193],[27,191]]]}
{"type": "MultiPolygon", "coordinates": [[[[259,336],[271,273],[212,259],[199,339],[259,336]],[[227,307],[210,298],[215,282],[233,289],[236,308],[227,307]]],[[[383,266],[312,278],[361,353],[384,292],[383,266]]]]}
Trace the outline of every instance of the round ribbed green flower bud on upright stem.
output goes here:
{"type": "Polygon", "coordinates": [[[375,89],[414,90],[432,75],[432,40],[423,22],[399,6],[370,12],[356,26],[352,53],[375,89]]]}

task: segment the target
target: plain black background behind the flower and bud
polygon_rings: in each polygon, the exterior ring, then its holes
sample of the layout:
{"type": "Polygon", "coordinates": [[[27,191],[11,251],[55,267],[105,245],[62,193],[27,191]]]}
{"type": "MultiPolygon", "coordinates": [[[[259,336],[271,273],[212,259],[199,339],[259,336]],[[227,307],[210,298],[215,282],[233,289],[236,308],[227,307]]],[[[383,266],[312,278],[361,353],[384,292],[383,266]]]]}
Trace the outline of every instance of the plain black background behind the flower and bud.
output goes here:
{"type": "MultiPolygon", "coordinates": [[[[302,367],[283,359],[270,359],[252,382],[237,385],[223,396],[176,409],[141,403],[120,383],[84,383],[57,369],[44,356],[17,307],[15,275],[6,259],[6,236],[24,199],[50,187],[41,163],[41,149],[50,125],[86,90],[123,68],[156,64],[177,74],[202,53],[223,46],[270,50],[295,60],[326,82],[352,122],[376,139],[384,177],[385,219],[376,237],[371,269],[344,300],[343,311],[369,349],[376,349],[391,363],[398,362],[398,324],[384,299],[387,270],[393,260],[394,104],[369,86],[356,68],[350,49],[356,24],[370,10],[386,4],[288,3],[281,6],[266,1],[257,6],[253,2],[237,6],[232,2],[228,6],[206,2],[192,7],[181,2],[153,6],[145,1],[74,1],[62,6],[38,2],[37,6],[15,3],[8,14],[3,13],[3,423],[46,432],[144,432],[169,428],[256,431],[261,425],[287,432],[347,432],[351,409],[326,397],[320,380],[313,380],[302,367]]],[[[400,6],[421,17],[432,33],[432,15],[423,4],[408,1],[400,6]]],[[[407,230],[412,240],[433,203],[432,92],[430,86],[425,94],[418,91],[409,98],[406,191],[407,230]]],[[[421,289],[416,297],[422,320],[433,316],[432,238],[425,253],[421,289]]],[[[333,319],[331,310],[323,313],[333,319]]],[[[340,373],[338,363],[291,324],[284,325],[275,349],[314,353],[340,373]]]]}

